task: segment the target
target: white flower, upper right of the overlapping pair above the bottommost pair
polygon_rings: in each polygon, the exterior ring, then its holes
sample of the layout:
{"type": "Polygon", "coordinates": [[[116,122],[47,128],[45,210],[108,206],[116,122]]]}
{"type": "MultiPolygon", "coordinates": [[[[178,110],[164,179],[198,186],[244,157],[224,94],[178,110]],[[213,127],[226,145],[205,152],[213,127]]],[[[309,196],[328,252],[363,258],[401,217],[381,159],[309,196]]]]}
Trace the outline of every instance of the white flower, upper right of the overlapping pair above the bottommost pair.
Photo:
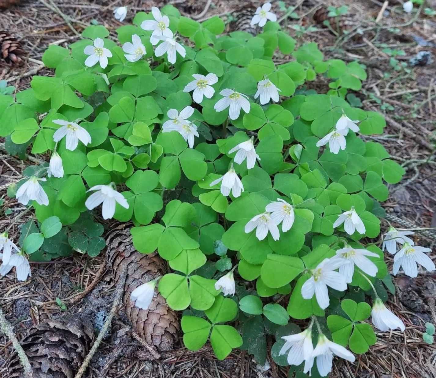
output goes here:
{"type": "Polygon", "coordinates": [[[350,245],[336,251],[337,257],[347,261],[346,264],[339,267],[339,273],[345,277],[347,283],[351,283],[354,274],[354,265],[357,265],[362,272],[368,276],[375,277],[378,272],[377,266],[365,256],[380,257],[377,253],[370,252],[366,249],[354,249],[350,245]]]}

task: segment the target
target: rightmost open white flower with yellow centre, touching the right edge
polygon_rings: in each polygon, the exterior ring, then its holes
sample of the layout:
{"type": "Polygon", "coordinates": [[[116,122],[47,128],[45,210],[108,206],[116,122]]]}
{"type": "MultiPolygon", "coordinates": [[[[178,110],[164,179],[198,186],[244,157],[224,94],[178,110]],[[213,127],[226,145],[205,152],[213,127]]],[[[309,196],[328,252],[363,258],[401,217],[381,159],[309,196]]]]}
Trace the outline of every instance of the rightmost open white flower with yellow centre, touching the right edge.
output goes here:
{"type": "Polygon", "coordinates": [[[405,242],[403,248],[398,251],[394,256],[394,266],[392,266],[392,273],[394,276],[398,273],[400,267],[403,268],[405,274],[409,277],[415,278],[418,276],[418,266],[422,265],[429,272],[435,270],[435,264],[424,252],[431,252],[430,248],[419,247],[417,245],[410,245],[405,242]]]}

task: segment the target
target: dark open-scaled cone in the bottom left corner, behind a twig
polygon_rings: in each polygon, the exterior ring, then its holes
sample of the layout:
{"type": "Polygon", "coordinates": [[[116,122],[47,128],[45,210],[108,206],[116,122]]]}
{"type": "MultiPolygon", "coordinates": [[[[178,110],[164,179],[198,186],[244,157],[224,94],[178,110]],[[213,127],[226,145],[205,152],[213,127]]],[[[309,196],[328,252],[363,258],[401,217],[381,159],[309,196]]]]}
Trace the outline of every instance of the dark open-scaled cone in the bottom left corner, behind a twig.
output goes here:
{"type": "MultiPolygon", "coordinates": [[[[91,347],[94,333],[89,320],[69,317],[46,320],[31,328],[21,345],[34,369],[34,378],[74,378],[91,347]]],[[[22,377],[18,358],[8,378],[22,377]]]]}

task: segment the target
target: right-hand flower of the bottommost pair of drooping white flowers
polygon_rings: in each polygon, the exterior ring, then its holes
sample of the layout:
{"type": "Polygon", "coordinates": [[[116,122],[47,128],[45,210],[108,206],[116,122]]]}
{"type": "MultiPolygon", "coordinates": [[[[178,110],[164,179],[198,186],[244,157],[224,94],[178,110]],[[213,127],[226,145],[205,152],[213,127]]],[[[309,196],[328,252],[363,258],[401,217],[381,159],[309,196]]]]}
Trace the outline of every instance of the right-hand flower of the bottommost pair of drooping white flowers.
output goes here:
{"type": "Polygon", "coordinates": [[[333,355],[354,362],[355,357],[342,345],[336,344],[327,339],[324,334],[319,334],[318,343],[313,351],[312,358],[317,358],[317,368],[321,377],[328,375],[333,366],[333,355]]]}

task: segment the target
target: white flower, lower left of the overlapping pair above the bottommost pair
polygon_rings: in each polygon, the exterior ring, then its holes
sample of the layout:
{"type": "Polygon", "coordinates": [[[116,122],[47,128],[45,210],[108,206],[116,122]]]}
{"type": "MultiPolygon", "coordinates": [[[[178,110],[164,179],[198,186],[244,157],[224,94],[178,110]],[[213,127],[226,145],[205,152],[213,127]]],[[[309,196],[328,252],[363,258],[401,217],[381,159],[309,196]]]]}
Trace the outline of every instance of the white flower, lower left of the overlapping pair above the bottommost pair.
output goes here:
{"type": "Polygon", "coordinates": [[[324,259],[311,271],[312,276],[303,284],[301,295],[304,299],[311,299],[315,294],[317,302],[324,310],[330,304],[327,286],[338,291],[347,289],[345,277],[335,272],[342,264],[347,263],[343,259],[324,259]]]}

